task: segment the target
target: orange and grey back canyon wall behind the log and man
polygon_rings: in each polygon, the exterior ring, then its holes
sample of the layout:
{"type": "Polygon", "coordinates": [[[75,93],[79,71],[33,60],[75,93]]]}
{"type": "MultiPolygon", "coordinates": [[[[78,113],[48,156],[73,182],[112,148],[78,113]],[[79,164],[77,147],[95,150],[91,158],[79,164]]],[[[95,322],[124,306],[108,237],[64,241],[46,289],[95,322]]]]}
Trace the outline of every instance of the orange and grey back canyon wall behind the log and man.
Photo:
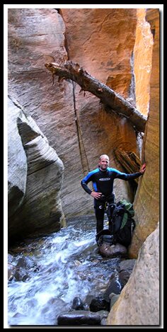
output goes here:
{"type": "MultiPolygon", "coordinates": [[[[93,200],[80,181],[97,167],[99,155],[108,154],[110,166],[125,171],[114,149],[138,155],[139,149],[127,118],[106,111],[98,98],[87,92],[84,96],[72,81],[58,81],[57,77],[52,81],[45,63],[79,62],[92,76],[135,103],[134,46],[137,41],[139,45],[139,16],[137,9],[112,8],[62,9],[59,13],[54,9],[8,10],[8,90],[63,161],[62,207],[71,217],[93,212],[93,200]]],[[[148,147],[150,157],[152,148],[148,147]]],[[[114,191],[116,200],[134,199],[130,183],[117,180],[114,191]]]]}

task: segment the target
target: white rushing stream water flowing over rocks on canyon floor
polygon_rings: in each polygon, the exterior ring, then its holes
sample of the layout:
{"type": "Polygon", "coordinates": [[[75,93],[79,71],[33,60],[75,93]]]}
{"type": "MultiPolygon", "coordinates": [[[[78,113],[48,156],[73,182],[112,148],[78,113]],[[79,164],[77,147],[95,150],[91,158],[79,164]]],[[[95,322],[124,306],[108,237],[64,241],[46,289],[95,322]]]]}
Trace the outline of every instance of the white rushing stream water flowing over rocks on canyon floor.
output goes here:
{"type": "Polygon", "coordinates": [[[76,217],[61,231],[29,241],[21,253],[12,254],[13,265],[24,257],[36,268],[28,269],[25,281],[8,282],[9,325],[57,325],[57,316],[71,309],[74,297],[86,302],[88,295],[105,291],[120,259],[99,255],[95,229],[93,216],[76,217]]]}

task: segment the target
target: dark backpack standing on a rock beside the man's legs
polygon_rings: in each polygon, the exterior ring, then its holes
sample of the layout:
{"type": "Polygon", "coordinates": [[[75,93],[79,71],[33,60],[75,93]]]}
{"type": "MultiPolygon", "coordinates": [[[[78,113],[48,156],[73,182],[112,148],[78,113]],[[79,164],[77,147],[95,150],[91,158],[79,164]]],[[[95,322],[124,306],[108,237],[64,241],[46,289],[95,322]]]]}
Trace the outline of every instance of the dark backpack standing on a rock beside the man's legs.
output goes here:
{"type": "Polygon", "coordinates": [[[113,235],[114,242],[128,247],[132,241],[132,232],[134,231],[135,222],[134,208],[132,203],[126,200],[117,202],[115,210],[113,211],[113,235]]]}

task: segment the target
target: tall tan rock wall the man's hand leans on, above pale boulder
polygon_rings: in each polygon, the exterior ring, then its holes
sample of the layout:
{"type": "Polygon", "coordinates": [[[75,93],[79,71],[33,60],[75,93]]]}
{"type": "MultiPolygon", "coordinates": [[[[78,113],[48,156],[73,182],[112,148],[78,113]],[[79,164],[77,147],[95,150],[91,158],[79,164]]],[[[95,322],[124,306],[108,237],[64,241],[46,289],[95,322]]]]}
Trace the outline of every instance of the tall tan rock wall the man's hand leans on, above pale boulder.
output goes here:
{"type": "Polygon", "coordinates": [[[137,227],[129,254],[136,257],[140,246],[156,228],[159,222],[159,10],[149,9],[146,19],[154,33],[154,48],[151,71],[151,94],[149,120],[146,125],[143,161],[146,161],[146,172],[142,177],[134,201],[137,227]]]}

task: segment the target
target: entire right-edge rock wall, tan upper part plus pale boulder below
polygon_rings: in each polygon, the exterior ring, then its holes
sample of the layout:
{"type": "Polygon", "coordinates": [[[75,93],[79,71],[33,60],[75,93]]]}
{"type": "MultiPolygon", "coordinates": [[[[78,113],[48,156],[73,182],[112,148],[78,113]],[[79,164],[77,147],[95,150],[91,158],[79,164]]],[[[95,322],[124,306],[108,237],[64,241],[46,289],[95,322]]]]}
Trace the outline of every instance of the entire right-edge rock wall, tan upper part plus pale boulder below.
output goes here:
{"type": "Polygon", "coordinates": [[[149,9],[146,19],[154,32],[154,49],[149,120],[143,149],[146,172],[134,201],[138,224],[129,248],[129,256],[137,257],[137,262],[108,316],[108,325],[113,326],[163,324],[163,309],[159,307],[160,290],[162,292],[163,287],[163,282],[159,283],[159,277],[162,277],[159,265],[159,226],[162,229],[163,222],[160,219],[159,223],[159,10],[149,9]]]}

